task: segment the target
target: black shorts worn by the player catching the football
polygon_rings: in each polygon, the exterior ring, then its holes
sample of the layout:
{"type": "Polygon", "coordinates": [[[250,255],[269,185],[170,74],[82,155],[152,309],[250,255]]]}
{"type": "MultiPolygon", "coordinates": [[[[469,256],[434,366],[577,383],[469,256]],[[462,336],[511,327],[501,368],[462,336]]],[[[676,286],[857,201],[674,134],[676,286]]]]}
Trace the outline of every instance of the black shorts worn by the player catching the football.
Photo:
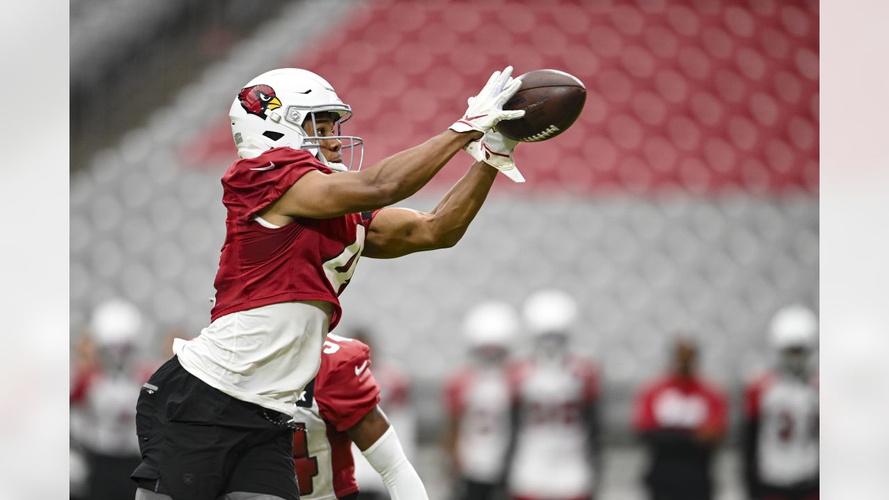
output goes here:
{"type": "Polygon", "coordinates": [[[216,500],[233,491],[299,500],[289,420],[212,388],[174,356],[142,386],[142,463],[130,478],[174,500],[216,500]]]}

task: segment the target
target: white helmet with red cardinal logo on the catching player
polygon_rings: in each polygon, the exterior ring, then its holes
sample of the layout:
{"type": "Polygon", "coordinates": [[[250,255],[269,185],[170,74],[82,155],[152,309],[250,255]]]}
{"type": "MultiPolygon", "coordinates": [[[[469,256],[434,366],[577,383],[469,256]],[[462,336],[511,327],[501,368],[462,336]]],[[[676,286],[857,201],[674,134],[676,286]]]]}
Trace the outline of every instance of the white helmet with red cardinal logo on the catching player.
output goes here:
{"type": "Polygon", "coordinates": [[[305,69],[273,69],[253,78],[235,97],[228,117],[238,157],[258,157],[268,149],[289,146],[310,151],[337,172],[360,170],[364,161],[364,140],[342,135],[342,124],[352,117],[352,108],[340,100],[327,80],[305,69]],[[335,124],[336,135],[306,133],[302,123],[311,119],[312,130],[316,130],[315,113],[323,111],[340,117],[335,124]],[[318,147],[323,139],[342,142],[344,156],[348,151],[350,157],[348,165],[332,164],[324,158],[318,147]]]}

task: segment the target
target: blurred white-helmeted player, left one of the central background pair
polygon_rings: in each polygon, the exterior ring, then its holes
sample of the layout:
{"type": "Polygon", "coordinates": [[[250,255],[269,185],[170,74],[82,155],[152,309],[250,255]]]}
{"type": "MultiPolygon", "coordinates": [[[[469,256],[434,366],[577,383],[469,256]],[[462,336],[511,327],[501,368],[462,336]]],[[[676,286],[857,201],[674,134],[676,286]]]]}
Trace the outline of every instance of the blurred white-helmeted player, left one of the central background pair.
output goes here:
{"type": "Polygon", "coordinates": [[[516,311],[505,302],[479,303],[463,322],[469,365],[445,389],[445,448],[461,500],[489,500],[501,487],[509,444],[507,361],[518,328],[516,311]]]}

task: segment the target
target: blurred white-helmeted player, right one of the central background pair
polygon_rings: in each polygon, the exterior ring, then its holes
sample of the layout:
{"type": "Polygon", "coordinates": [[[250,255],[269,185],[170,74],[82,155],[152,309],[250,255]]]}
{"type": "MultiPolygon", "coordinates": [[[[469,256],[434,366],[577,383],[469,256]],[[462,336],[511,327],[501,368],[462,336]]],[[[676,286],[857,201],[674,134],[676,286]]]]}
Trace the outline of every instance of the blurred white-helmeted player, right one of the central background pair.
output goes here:
{"type": "Polygon", "coordinates": [[[571,351],[577,303],[544,289],[527,298],[522,313],[533,345],[511,376],[509,496],[590,499],[602,470],[599,389],[593,364],[571,351]]]}

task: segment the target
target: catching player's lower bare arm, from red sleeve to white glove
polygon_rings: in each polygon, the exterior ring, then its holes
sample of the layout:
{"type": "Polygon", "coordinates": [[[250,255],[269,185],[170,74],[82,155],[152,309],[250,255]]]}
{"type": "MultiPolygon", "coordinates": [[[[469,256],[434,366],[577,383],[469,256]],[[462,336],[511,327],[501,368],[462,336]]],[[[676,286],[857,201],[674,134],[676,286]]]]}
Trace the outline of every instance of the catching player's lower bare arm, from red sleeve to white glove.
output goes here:
{"type": "Polygon", "coordinates": [[[368,228],[363,255],[391,259],[456,245],[485,203],[496,176],[492,166],[477,162],[432,212],[407,208],[380,210],[368,228]]]}

